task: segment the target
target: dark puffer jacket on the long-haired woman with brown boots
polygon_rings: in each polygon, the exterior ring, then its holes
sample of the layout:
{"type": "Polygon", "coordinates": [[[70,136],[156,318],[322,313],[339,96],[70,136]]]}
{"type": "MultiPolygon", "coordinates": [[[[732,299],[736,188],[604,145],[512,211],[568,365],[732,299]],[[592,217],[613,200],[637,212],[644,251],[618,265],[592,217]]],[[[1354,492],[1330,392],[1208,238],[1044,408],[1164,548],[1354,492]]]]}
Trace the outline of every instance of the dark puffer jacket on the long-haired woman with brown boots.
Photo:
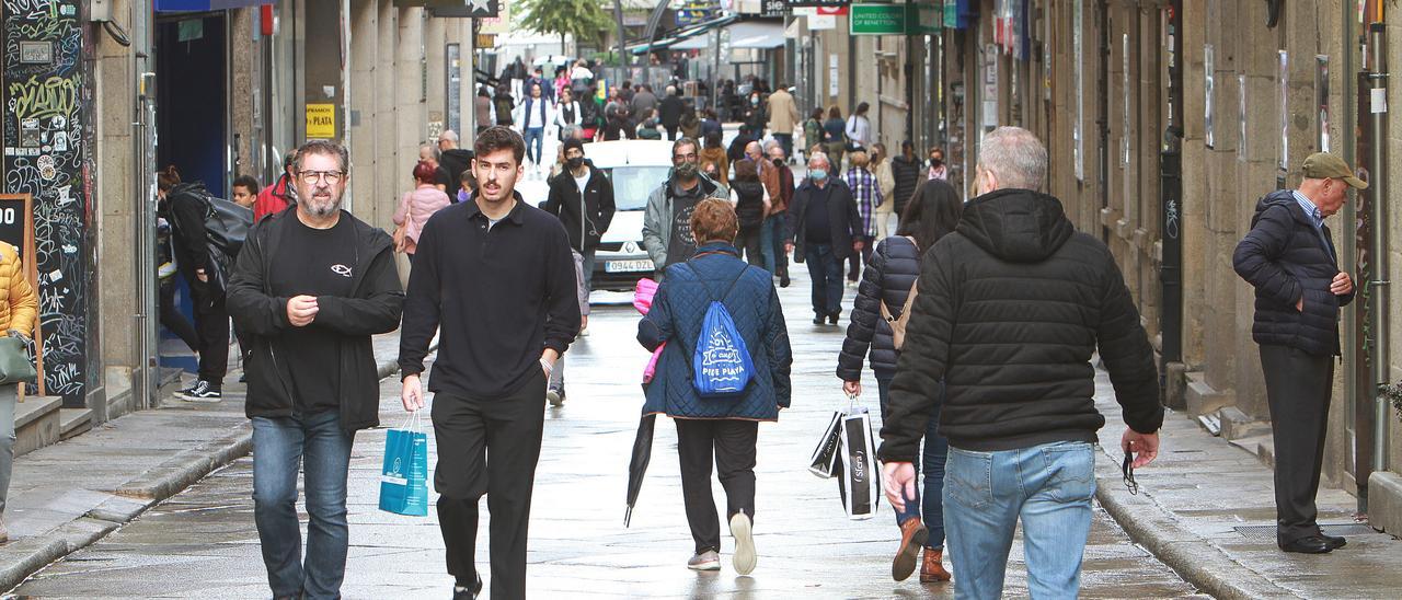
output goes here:
{"type": "Polygon", "coordinates": [[[880,317],[880,303],[885,301],[886,308],[899,315],[918,276],[920,250],[916,243],[907,237],[887,237],[876,244],[852,300],[852,321],[847,325],[843,352],[837,355],[838,379],[861,381],[862,357],[868,355],[873,371],[896,371],[900,350],[896,349],[890,324],[880,317]]]}

